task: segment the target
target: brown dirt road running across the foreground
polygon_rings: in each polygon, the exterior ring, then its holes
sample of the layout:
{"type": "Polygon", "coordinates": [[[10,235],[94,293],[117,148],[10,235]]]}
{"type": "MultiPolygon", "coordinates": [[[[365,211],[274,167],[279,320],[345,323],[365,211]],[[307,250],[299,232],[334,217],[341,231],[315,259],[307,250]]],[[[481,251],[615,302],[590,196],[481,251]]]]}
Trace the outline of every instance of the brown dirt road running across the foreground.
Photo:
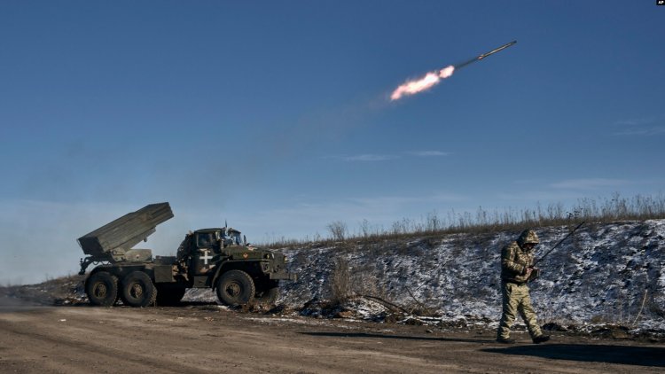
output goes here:
{"type": "Polygon", "coordinates": [[[663,372],[665,346],[178,308],[0,307],[0,372],[663,372]],[[428,331],[429,330],[429,331],[428,331]]]}

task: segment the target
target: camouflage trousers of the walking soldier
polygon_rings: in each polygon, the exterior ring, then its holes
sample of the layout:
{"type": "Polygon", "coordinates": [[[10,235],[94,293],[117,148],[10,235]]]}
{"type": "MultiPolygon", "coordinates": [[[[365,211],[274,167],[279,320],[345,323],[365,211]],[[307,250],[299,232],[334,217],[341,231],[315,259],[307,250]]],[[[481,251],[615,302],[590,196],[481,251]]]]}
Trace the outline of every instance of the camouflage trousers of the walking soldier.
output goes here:
{"type": "Polygon", "coordinates": [[[528,333],[531,338],[543,334],[536,321],[536,311],[531,306],[531,297],[528,295],[527,284],[501,283],[503,294],[503,313],[499,323],[497,338],[510,338],[511,326],[515,322],[515,316],[520,313],[522,319],[527,323],[528,333]]]}

